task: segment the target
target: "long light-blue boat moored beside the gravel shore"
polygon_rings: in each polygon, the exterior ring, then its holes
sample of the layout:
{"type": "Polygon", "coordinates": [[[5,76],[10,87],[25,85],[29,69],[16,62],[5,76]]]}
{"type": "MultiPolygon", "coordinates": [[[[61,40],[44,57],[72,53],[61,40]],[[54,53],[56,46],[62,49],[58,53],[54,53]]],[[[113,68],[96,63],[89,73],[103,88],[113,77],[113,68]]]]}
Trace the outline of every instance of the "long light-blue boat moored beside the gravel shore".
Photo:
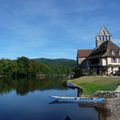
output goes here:
{"type": "Polygon", "coordinates": [[[51,96],[58,102],[67,103],[104,103],[105,98],[82,98],[82,97],[63,97],[63,96],[51,96]]]}

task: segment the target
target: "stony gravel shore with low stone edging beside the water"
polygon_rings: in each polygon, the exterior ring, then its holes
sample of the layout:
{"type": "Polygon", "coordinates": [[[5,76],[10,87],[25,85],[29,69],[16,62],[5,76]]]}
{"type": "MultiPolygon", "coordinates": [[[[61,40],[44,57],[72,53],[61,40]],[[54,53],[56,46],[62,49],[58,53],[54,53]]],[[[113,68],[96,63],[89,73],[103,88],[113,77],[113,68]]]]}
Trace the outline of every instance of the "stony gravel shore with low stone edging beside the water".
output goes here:
{"type": "Polygon", "coordinates": [[[106,104],[98,111],[99,120],[120,120],[120,92],[98,91],[94,97],[106,98],[106,104]]]}

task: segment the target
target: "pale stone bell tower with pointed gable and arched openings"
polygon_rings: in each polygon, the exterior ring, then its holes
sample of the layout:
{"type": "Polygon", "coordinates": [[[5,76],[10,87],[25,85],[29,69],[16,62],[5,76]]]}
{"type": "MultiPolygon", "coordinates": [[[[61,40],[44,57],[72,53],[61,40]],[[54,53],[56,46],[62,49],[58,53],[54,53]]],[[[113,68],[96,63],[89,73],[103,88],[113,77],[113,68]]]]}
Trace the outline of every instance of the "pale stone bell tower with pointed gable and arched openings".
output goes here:
{"type": "Polygon", "coordinates": [[[99,33],[96,35],[96,47],[99,47],[104,41],[112,41],[112,36],[107,30],[107,28],[103,27],[99,33]]]}

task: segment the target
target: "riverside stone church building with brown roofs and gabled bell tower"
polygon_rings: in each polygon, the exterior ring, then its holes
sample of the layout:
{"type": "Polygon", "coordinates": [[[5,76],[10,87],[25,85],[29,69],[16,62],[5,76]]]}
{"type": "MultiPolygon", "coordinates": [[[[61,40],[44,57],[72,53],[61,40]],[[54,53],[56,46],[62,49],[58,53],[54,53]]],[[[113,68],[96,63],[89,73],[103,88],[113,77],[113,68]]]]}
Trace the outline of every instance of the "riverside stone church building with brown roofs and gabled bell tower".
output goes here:
{"type": "Polygon", "coordinates": [[[120,47],[113,40],[107,28],[103,27],[96,35],[95,49],[78,49],[77,64],[81,72],[89,75],[116,74],[120,71],[120,47]]]}

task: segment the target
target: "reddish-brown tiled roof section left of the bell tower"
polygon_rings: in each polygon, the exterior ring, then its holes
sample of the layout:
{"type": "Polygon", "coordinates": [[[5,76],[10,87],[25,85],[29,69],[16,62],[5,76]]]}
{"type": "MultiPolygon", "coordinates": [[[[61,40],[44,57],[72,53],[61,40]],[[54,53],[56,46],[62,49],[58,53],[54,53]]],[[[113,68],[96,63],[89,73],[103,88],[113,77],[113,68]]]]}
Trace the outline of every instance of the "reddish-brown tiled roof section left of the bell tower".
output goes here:
{"type": "Polygon", "coordinates": [[[79,49],[77,51],[77,57],[78,58],[86,58],[88,57],[92,52],[92,49],[79,49]]]}

